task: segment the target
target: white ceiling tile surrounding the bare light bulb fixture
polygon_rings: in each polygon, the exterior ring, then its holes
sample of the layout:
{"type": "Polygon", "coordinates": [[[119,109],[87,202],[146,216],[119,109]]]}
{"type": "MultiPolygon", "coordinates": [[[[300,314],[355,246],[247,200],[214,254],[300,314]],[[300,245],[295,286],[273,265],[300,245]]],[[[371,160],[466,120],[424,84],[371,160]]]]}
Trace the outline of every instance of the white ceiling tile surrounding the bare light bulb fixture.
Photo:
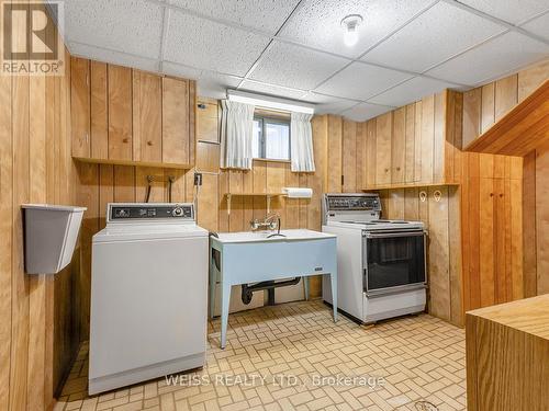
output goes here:
{"type": "Polygon", "coordinates": [[[358,57],[399,28],[433,0],[303,0],[280,35],[327,52],[358,57]],[[363,18],[354,47],[343,42],[341,20],[348,14],[363,18]]]}

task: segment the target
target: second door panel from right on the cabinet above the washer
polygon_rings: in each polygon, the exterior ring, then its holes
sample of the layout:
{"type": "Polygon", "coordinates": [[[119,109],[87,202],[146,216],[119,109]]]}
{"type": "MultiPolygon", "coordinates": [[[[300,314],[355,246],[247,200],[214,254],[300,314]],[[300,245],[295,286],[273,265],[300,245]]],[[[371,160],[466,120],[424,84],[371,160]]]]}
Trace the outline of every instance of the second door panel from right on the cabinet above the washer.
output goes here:
{"type": "Polygon", "coordinates": [[[163,161],[161,77],[133,72],[133,159],[163,161]]]}

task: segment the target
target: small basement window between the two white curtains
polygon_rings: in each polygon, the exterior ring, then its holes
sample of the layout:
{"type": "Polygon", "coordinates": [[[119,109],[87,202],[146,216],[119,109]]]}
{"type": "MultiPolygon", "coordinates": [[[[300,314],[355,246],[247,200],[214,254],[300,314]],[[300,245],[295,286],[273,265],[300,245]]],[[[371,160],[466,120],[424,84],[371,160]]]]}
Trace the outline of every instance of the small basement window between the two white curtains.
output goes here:
{"type": "Polygon", "coordinates": [[[253,144],[255,159],[290,160],[290,121],[256,116],[253,144]]]}

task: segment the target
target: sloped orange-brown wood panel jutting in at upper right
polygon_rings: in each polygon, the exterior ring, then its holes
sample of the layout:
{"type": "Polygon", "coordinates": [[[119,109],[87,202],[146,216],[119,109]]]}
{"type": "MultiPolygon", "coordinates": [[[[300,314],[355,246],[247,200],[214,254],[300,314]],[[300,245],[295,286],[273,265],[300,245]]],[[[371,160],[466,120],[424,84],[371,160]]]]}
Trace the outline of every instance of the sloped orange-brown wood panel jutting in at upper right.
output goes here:
{"type": "Polygon", "coordinates": [[[464,151],[526,156],[549,139],[549,80],[518,103],[464,151]]]}

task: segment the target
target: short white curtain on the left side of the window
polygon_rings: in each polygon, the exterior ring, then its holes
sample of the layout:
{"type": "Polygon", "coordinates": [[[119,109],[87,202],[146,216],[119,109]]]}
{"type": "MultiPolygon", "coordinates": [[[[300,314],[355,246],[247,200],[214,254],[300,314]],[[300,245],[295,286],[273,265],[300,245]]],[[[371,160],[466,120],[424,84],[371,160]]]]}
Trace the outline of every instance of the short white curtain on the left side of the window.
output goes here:
{"type": "Polygon", "coordinates": [[[255,106],[228,100],[221,106],[221,167],[250,170],[255,106]]]}

